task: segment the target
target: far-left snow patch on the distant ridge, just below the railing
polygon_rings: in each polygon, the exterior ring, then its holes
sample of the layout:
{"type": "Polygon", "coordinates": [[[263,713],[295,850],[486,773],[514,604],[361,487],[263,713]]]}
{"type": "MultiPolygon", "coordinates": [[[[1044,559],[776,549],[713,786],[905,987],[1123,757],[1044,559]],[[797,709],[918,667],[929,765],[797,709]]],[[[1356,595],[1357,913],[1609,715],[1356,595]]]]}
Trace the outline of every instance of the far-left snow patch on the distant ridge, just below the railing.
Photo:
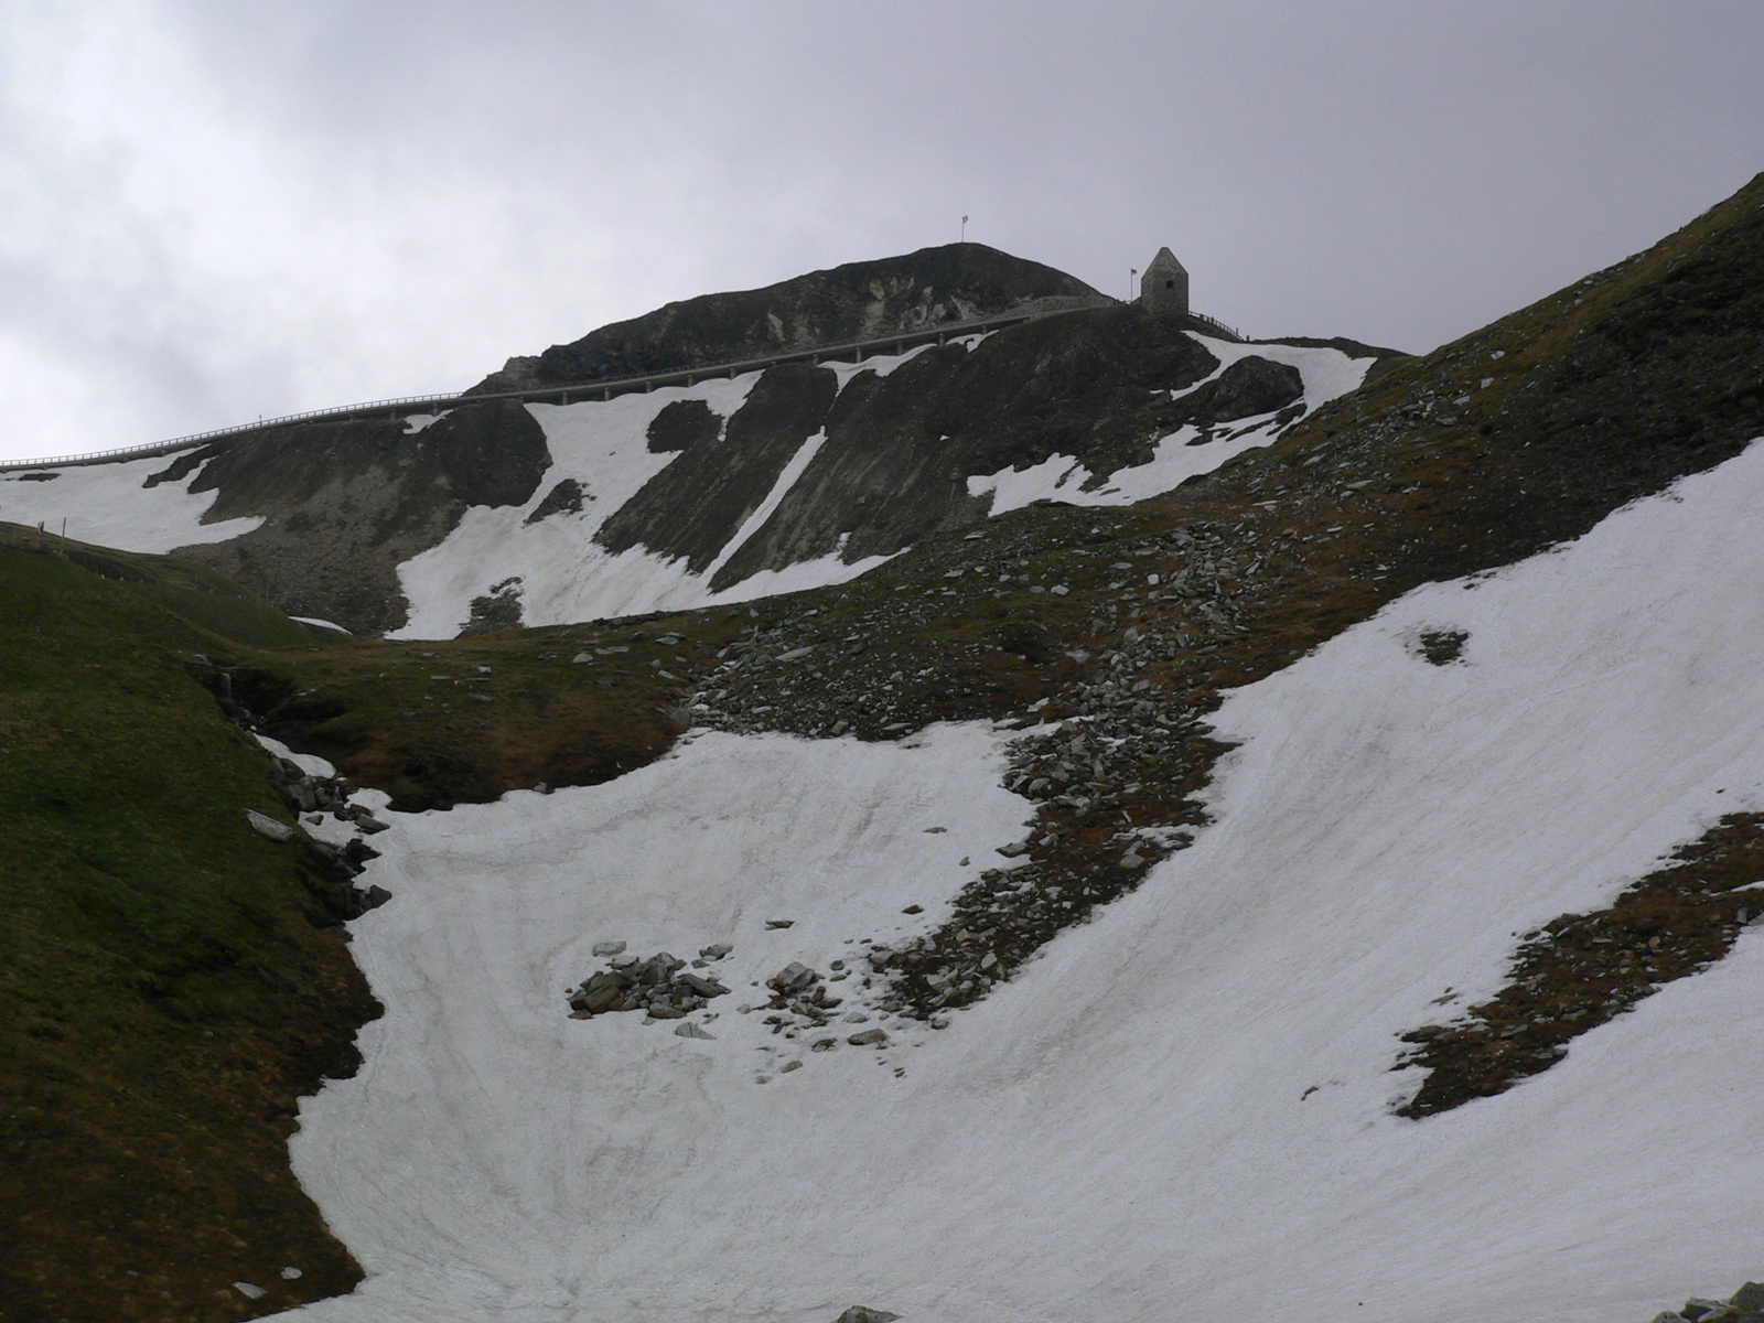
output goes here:
{"type": "Polygon", "coordinates": [[[69,538],[155,556],[199,542],[242,538],[263,524],[261,515],[203,524],[203,515],[220,492],[191,496],[187,489],[201,475],[201,467],[183,482],[143,487],[152,475],[176,459],[176,455],[148,455],[118,464],[0,473],[0,519],[25,526],[41,522],[44,531],[56,534],[65,519],[69,538]],[[49,482],[30,482],[25,478],[26,473],[56,476],[49,482]]]}

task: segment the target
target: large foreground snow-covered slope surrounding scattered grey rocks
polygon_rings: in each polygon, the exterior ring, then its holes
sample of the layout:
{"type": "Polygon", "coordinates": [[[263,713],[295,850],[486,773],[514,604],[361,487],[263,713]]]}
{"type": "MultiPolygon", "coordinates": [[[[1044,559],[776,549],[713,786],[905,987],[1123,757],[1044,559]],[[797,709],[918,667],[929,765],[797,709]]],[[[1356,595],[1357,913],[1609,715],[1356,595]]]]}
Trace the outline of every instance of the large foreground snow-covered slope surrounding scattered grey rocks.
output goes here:
{"type": "Polygon", "coordinates": [[[295,1141],[370,1277],[303,1318],[1607,1323],[1755,1275],[1759,930],[1499,1097],[1402,1120],[1390,1065],[1515,933],[1764,808],[1760,508],[1753,445],[1237,691],[1215,826],[884,1050],[734,1005],[938,917],[1028,808],[1000,734],[702,736],[400,820],[355,944],[388,1014],[295,1141]],[[603,938],[732,942],[716,1037],[564,1018],[603,938]]]}

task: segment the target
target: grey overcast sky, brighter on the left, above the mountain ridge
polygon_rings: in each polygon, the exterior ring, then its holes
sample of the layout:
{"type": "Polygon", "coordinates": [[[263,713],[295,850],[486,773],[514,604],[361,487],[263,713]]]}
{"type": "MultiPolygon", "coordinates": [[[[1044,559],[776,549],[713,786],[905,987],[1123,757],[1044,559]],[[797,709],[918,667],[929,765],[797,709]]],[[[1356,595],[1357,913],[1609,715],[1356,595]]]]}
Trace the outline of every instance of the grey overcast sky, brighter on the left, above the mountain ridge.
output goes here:
{"type": "Polygon", "coordinates": [[[1429,349],[1764,169],[1764,5],[0,0],[0,455],[958,238],[1429,349]]]}

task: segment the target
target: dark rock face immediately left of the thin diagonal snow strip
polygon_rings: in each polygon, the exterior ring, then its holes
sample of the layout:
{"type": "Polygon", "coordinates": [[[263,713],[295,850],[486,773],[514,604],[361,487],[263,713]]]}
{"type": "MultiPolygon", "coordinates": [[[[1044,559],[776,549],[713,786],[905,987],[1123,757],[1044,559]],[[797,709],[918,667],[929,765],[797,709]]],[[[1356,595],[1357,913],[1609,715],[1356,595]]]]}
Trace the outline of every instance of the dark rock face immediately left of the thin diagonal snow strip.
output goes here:
{"type": "Polygon", "coordinates": [[[594,540],[617,554],[642,543],[702,573],[820,430],[838,392],[826,367],[787,363],[762,376],[720,439],[695,445],[609,519],[594,540]]]}

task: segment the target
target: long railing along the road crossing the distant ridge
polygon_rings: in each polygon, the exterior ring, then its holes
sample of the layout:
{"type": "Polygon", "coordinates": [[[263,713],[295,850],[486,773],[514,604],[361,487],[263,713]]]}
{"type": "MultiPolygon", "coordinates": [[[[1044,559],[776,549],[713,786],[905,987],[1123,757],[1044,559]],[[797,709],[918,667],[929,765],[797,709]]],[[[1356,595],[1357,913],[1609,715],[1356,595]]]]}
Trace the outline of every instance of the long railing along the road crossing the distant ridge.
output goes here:
{"type": "MultiPolygon", "coordinates": [[[[762,372],[769,367],[778,367],[780,363],[820,363],[826,360],[841,360],[850,356],[852,362],[864,362],[864,356],[875,356],[878,351],[893,349],[894,353],[903,353],[914,349],[921,344],[944,344],[951,339],[961,339],[965,335],[984,335],[988,332],[1002,330],[1004,326],[1016,326],[1025,321],[1037,321],[1041,318],[1053,318],[1060,312],[1073,312],[1080,307],[1088,307],[1083,302],[1073,302],[1065,305],[1060,300],[1060,307],[1032,307],[1018,309],[1014,312],[1000,312],[993,318],[972,318],[968,321],[946,321],[935,326],[923,326],[919,330],[901,332],[898,335],[884,335],[873,340],[852,340],[850,344],[822,344],[811,349],[792,349],[789,353],[767,355],[764,358],[739,358],[723,363],[704,363],[700,367],[679,367],[667,372],[644,372],[639,376],[626,377],[598,377],[594,381],[573,381],[566,385],[545,385],[545,386],[524,386],[520,390],[496,390],[496,392],[448,392],[445,395],[399,395],[395,399],[385,400],[365,400],[362,404],[333,404],[328,409],[307,409],[305,413],[288,413],[277,418],[259,418],[254,423],[238,423],[235,427],[215,427],[208,432],[192,432],[191,436],[173,437],[171,441],[148,441],[139,446],[120,446],[116,450],[90,450],[79,455],[46,455],[42,459],[0,459],[0,473],[12,469],[48,469],[48,467],[74,467],[81,464],[111,464],[123,459],[145,459],[150,455],[171,455],[178,450],[191,450],[205,441],[219,441],[229,436],[243,436],[247,432],[265,432],[272,427],[289,427],[293,423],[316,422],[321,418],[372,418],[374,415],[385,413],[392,418],[400,415],[409,415],[422,406],[459,406],[459,404],[476,404],[478,400],[520,400],[531,404],[570,404],[573,400],[602,399],[610,400],[614,395],[630,395],[633,392],[651,392],[656,386],[674,386],[686,385],[691,386],[699,381],[709,377],[736,377],[743,372],[762,372]]],[[[1101,307],[1101,305],[1099,305],[1101,307]]],[[[1238,332],[1226,326],[1222,321],[1208,318],[1200,312],[1191,312],[1192,321],[1200,321],[1214,330],[1224,332],[1237,340],[1244,337],[1238,332]]]]}

